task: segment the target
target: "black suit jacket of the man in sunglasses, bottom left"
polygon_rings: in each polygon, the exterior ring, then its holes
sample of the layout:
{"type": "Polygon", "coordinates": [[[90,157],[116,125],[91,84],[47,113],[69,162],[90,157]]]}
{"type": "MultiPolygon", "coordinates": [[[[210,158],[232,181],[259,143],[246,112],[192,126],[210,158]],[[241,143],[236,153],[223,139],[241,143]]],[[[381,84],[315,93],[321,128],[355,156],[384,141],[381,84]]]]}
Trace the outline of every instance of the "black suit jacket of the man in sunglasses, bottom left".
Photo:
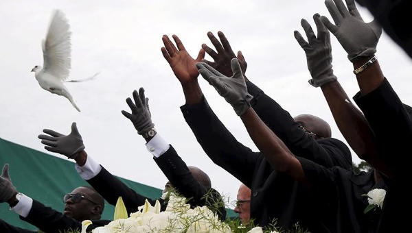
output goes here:
{"type": "MultiPolygon", "coordinates": [[[[67,230],[82,230],[82,222],[65,216],[50,207],[47,207],[41,202],[33,199],[33,206],[27,217],[20,219],[35,225],[38,229],[45,233],[60,233],[67,230]]],[[[93,220],[92,224],[87,228],[87,232],[91,232],[94,228],[108,224],[109,220],[93,220]]]]}

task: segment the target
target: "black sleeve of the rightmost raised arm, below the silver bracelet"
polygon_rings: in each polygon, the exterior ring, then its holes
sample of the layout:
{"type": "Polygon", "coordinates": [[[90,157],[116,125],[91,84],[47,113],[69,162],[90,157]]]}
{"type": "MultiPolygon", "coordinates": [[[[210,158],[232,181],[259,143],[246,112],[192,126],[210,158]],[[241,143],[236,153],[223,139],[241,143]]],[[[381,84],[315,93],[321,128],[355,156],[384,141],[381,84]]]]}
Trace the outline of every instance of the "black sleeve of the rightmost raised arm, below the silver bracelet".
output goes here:
{"type": "Polygon", "coordinates": [[[357,93],[354,101],[374,131],[381,159],[399,177],[410,177],[409,163],[400,161],[411,151],[412,120],[387,79],[365,96],[357,93]]]}

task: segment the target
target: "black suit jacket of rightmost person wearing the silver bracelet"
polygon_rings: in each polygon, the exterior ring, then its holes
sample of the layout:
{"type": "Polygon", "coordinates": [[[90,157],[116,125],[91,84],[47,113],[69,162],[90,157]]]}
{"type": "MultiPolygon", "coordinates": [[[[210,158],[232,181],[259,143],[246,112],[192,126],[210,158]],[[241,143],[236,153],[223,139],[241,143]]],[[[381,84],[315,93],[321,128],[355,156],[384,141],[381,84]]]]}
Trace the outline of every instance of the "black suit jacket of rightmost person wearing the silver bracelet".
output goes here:
{"type": "Polygon", "coordinates": [[[379,232],[402,232],[411,214],[411,201],[404,198],[405,187],[411,182],[412,120],[402,101],[387,79],[371,93],[357,93],[354,100],[365,114],[376,136],[380,158],[395,171],[391,179],[385,178],[388,190],[382,208],[379,232]]]}

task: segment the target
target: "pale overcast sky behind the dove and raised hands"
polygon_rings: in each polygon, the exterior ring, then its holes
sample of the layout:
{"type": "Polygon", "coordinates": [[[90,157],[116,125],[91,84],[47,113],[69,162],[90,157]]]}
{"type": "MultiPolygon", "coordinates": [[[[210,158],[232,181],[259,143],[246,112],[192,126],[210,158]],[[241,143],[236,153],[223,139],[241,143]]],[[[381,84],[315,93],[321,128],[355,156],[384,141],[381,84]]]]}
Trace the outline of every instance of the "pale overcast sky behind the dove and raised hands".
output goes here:
{"type": "MultiPolygon", "coordinates": [[[[365,21],[371,20],[366,9],[359,10],[365,21]]],[[[252,82],[292,116],[310,113],[325,119],[332,126],[332,136],[346,143],[321,89],[308,84],[306,56],[293,36],[295,29],[304,35],[302,18],[315,29],[312,16],[317,12],[332,21],[324,1],[316,0],[0,1],[0,137],[49,153],[38,134],[44,128],[69,134],[76,121],[87,153],[108,171],[163,188],[167,179],[146,150],[144,138],[121,113],[130,110],[125,99],[143,86],[159,134],[187,164],[207,172],[222,195],[236,199],[240,182],[211,162],[183,119],[179,109],[185,103],[183,91],[161,55],[161,37],[176,34],[196,57],[202,43],[211,46],[207,32],[216,36],[219,30],[224,32],[232,49],[244,54],[252,82]],[[69,79],[100,72],[92,81],[66,85],[82,112],[64,97],[43,90],[30,73],[36,64],[43,65],[41,41],[54,9],[62,10],[71,26],[69,79]]],[[[352,97],[358,91],[352,64],[333,35],[331,40],[334,73],[352,97]]],[[[411,59],[385,32],[376,56],[402,101],[411,105],[411,59]]],[[[229,103],[202,77],[199,82],[220,120],[241,143],[256,151],[229,103]]],[[[353,151],[352,157],[356,163],[361,161],[353,151]]]]}

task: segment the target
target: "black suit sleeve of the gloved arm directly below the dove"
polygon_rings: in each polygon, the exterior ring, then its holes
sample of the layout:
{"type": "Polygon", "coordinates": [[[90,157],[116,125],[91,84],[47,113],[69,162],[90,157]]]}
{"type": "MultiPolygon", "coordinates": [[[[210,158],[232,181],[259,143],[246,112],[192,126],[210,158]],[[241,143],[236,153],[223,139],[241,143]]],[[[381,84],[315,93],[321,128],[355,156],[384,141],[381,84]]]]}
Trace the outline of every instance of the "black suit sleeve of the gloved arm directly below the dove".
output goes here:
{"type": "MultiPolygon", "coordinates": [[[[136,193],[133,189],[129,188],[122,181],[117,179],[114,175],[109,173],[104,167],[102,171],[98,173],[95,177],[87,180],[87,182],[100,194],[108,204],[113,206],[116,205],[117,199],[122,197],[124,206],[128,214],[138,211],[139,206],[143,206],[146,199],[150,202],[152,206],[155,206],[156,200],[144,197],[139,193],[136,193]]],[[[162,210],[165,209],[163,200],[159,199],[162,210]]]]}

